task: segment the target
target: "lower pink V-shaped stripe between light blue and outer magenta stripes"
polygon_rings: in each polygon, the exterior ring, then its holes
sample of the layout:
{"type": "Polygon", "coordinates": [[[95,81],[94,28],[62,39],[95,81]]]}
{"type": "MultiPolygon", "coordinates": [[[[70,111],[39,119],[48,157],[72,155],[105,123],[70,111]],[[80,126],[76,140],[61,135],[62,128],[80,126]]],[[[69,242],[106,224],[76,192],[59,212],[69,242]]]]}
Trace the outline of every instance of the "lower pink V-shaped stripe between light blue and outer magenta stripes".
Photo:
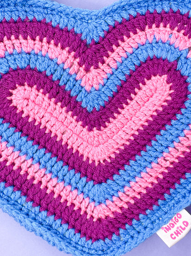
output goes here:
{"type": "MultiPolygon", "coordinates": [[[[191,125],[190,125],[191,128],[191,125]]],[[[89,198],[83,199],[83,193],[78,195],[78,190],[71,191],[71,185],[64,186],[64,182],[57,183],[57,178],[51,179],[51,173],[45,174],[45,169],[39,169],[39,164],[32,165],[32,159],[25,160],[26,155],[19,156],[19,151],[14,152],[14,147],[6,147],[7,142],[0,143],[0,161],[7,160],[7,165],[15,163],[14,169],[21,167],[21,174],[28,173],[27,179],[34,179],[34,184],[41,181],[41,189],[48,188],[47,193],[54,192],[54,197],[61,196],[61,202],[67,201],[75,205],[74,209],[81,208],[81,214],[86,212],[88,218],[93,216],[94,220],[113,217],[114,212],[121,213],[120,208],[128,208],[127,202],[134,203],[134,197],[140,198],[140,193],[146,193],[146,187],[152,187],[157,183],[157,178],[163,179],[163,172],[168,172],[167,167],[173,167],[171,163],[178,162],[178,157],[184,157],[184,152],[190,152],[191,131],[185,130],[185,137],[179,137],[180,143],[174,142],[175,148],[169,148],[169,153],[163,153],[158,158],[158,163],[152,163],[152,168],[146,168],[147,173],[141,172],[141,178],[136,177],[136,182],[131,181],[130,187],[125,186],[123,192],[118,192],[119,197],[113,196],[113,202],[106,200],[106,204],[101,203],[95,206],[94,202],[89,202],[89,198]]]]}

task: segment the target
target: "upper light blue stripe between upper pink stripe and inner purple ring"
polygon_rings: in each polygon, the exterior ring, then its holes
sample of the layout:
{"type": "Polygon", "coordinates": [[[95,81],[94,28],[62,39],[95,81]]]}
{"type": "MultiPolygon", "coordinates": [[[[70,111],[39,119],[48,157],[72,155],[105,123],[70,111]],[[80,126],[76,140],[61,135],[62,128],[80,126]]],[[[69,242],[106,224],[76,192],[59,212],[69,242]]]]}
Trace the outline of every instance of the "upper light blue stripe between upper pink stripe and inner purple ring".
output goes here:
{"type": "Polygon", "coordinates": [[[87,110],[91,112],[94,107],[99,111],[100,106],[105,106],[105,101],[108,101],[109,97],[113,96],[113,92],[117,92],[117,86],[121,86],[121,80],[126,80],[125,74],[129,75],[130,70],[135,71],[135,65],[140,66],[140,61],[145,62],[148,56],[153,58],[153,55],[156,55],[158,58],[160,56],[163,59],[167,58],[169,61],[177,60],[180,57],[178,69],[182,68],[183,73],[185,73],[185,61],[187,61],[188,65],[191,64],[190,59],[185,59],[188,49],[180,51],[179,48],[174,48],[174,44],[169,45],[169,41],[166,43],[161,40],[157,42],[155,37],[152,43],[147,40],[145,45],[139,45],[137,49],[133,48],[133,54],[126,54],[128,58],[122,57],[122,63],[118,62],[117,70],[113,68],[113,74],[107,74],[108,79],[104,78],[104,86],[100,84],[99,90],[92,88],[89,93],[80,85],[81,79],[76,80],[76,74],[70,75],[69,68],[63,69],[64,64],[58,65],[57,59],[51,60],[48,54],[43,56],[42,52],[35,54],[34,50],[29,54],[23,50],[21,53],[17,53],[16,50],[12,54],[6,52],[6,57],[0,58],[0,73],[6,74],[9,72],[10,67],[16,70],[17,67],[25,69],[28,65],[32,69],[36,67],[40,72],[46,71],[47,76],[53,75],[53,81],[60,80],[59,85],[66,84],[66,90],[71,90],[71,96],[77,96],[76,100],[82,102],[81,106],[87,107],[87,110]]]}

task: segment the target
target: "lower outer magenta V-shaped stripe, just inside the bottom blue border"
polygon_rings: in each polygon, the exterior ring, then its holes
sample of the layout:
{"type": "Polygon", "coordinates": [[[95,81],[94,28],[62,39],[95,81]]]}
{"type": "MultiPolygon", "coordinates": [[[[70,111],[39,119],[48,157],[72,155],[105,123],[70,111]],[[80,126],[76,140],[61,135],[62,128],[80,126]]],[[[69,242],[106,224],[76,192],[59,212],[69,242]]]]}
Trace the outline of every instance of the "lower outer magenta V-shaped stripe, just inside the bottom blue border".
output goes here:
{"type": "Polygon", "coordinates": [[[158,199],[165,200],[164,193],[170,194],[169,189],[175,189],[175,183],[180,184],[180,179],[185,179],[185,173],[191,173],[191,152],[186,152],[184,157],[178,158],[173,167],[168,168],[168,173],[163,172],[163,179],[158,178],[157,184],[146,188],[146,194],[141,193],[140,199],[135,198],[135,204],[128,202],[128,209],[121,208],[122,213],[113,213],[114,218],[107,217],[93,221],[87,214],[80,214],[81,210],[74,210],[74,205],[67,206],[67,202],[60,202],[61,197],[53,198],[54,193],[46,194],[47,189],[40,189],[40,183],[33,184],[34,179],[27,179],[28,174],[21,175],[21,168],[12,170],[13,164],[6,166],[6,161],[0,162],[0,182],[6,181],[6,187],[14,185],[14,191],[22,191],[22,196],[27,196],[27,201],[33,201],[33,206],[40,206],[40,211],[47,210],[48,216],[55,215],[55,220],[62,219],[62,224],[68,223],[68,228],[75,228],[81,232],[81,237],[97,239],[112,239],[112,234],[119,235],[119,228],[125,229],[125,224],[132,225],[132,219],[139,220],[139,214],[146,214],[146,209],[152,210],[153,205],[158,205],[158,199]]]}

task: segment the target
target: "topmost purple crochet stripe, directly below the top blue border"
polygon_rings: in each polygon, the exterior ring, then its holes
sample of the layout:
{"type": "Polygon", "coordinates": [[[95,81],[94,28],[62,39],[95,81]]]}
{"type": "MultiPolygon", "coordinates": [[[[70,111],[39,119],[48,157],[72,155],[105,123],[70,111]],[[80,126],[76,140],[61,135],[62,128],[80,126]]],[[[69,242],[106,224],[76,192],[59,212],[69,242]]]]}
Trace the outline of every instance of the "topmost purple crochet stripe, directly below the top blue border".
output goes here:
{"type": "Polygon", "coordinates": [[[142,16],[138,13],[135,18],[130,15],[129,21],[123,19],[120,24],[116,21],[114,28],[109,26],[108,32],[105,31],[104,38],[100,37],[98,43],[94,39],[92,40],[90,48],[87,46],[86,40],[81,40],[81,34],[75,33],[74,29],[68,31],[65,27],[61,30],[59,25],[52,27],[51,22],[46,23],[45,19],[38,22],[35,18],[33,21],[29,21],[28,18],[22,21],[21,18],[18,18],[17,22],[13,19],[7,22],[4,19],[0,24],[0,42],[3,41],[4,36],[11,39],[12,35],[16,38],[21,35],[24,39],[27,39],[28,35],[32,39],[39,36],[40,40],[46,37],[48,42],[54,40],[55,44],[60,43],[62,48],[69,47],[69,52],[74,51],[75,57],[79,58],[79,65],[84,65],[85,70],[89,71],[92,65],[98,68],[99,62],[104,63],[103,57],[108,57],[108,51],[113,52],[113,45],[119,46],[118,40],[124,41],[124,36],[129,37],[130,32],[136,34],[136,29],[145,31],[146,25],[151,28],[153,24],[156,24],[159,27],[162,22],[164,26],[169,24],[171,29],[178,26],[178,31],[185,30],[185,35],[190,38],[191,19],[188,18],[188,13],[182,15],[180,11],[174,13],[173,10],[170,10],[168,13],[147,11],[142,16]]]}

